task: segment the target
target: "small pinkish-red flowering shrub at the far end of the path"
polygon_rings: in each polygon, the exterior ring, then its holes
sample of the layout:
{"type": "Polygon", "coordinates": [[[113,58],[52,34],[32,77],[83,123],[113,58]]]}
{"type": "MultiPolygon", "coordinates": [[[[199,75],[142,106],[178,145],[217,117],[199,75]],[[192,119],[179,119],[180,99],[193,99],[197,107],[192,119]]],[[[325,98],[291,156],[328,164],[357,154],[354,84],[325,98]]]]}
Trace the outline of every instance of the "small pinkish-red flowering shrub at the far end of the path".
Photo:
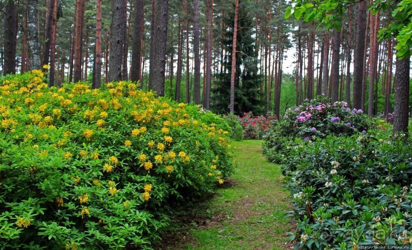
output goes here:
{"type": "Polygon", "coordinates": [[[273,127],[277,121],[276,115],[266,114],[253,116],[252,112],[238,118],[244,129],[244,139],[259,140],[273,127]]]}

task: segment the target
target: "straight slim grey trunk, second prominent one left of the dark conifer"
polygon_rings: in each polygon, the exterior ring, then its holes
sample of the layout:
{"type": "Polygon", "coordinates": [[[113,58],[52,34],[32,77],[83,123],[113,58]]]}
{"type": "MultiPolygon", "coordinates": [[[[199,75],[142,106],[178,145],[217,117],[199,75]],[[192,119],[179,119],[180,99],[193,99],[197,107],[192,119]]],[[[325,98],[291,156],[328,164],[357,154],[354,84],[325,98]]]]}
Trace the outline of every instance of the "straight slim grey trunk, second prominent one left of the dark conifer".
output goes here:
{"type": "Polygon", "coordinates": [[[193,0],[193,56],[195,57],[193,101],[195,104],[200,104],[199,0],[193,0]]]}

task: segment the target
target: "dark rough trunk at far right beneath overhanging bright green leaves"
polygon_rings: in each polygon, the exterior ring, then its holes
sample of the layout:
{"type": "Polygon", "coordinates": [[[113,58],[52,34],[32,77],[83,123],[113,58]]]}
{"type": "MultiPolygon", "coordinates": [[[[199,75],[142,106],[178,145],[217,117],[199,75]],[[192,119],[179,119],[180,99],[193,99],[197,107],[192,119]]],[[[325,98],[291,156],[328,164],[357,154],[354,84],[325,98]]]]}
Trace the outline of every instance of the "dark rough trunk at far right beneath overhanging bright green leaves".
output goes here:
{"type": "Polygon", "coordinates": [[[410,57],[396,57],[394,134],[408,132],[410,57]]]}

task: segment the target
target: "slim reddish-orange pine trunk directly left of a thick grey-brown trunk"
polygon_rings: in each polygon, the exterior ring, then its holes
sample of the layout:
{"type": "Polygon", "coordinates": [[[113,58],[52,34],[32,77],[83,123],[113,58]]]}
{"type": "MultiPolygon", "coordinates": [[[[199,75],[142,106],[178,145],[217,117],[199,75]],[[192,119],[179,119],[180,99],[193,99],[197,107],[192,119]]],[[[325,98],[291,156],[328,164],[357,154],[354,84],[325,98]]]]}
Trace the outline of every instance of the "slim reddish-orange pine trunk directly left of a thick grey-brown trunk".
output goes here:
{"type": "Polygon", "coordinates": [[[102,85],[102,0],[96,3],[96,45],[94,47],[94,70],[92,88],[102,85]]]}

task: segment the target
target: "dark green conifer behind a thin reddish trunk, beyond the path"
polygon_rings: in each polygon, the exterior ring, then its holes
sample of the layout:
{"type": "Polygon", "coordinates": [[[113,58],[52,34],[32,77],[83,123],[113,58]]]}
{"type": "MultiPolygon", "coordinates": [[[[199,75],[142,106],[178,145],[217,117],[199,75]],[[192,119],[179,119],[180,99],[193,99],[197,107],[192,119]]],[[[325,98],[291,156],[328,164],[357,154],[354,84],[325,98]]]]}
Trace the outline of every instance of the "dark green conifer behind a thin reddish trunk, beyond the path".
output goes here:
{"type": "MultiPolygon", "coordinates": [[[[253,16],[245,9],[239,8],[239,23],[237,30],[236,76],[235,76],[235,113],[252,111],[256,115],[263,113],[260,102],[261,76],[258,74],[258,52],[255,49],[253,16]]],[[[226,23],[234,22],[234,13],[228,15],[226,23]]],[[[222,39],[226,51],[232,51],[233,28],[227,31],[222,39]]],[[[211,109],[217,113],[229,113],[230,72],[232,56],[224,62],[225,71],[215,76],[212,88],[211,109]]]]}

